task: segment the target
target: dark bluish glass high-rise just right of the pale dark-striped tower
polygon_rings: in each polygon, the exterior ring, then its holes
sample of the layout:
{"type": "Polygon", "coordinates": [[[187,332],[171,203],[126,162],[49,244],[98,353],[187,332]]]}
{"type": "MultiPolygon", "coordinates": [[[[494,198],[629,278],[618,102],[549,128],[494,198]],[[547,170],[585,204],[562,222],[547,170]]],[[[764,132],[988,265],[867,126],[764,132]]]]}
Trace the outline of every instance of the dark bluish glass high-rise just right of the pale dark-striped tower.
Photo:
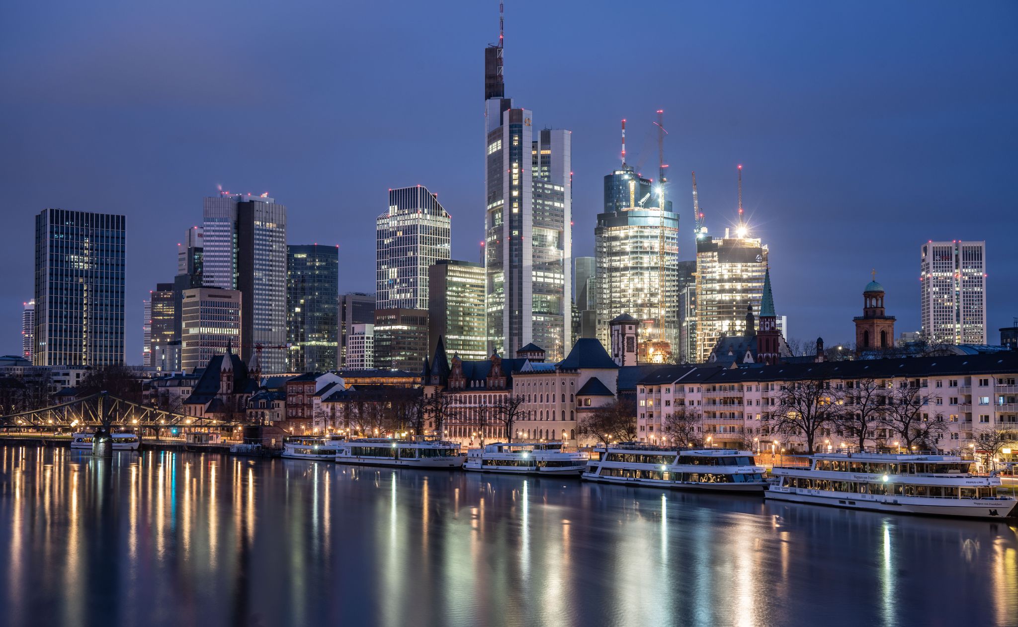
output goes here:
{"type": "Polygon", "coordinates": [[[325,372],[337,362],[339,248],[286,246],[287,369],[325,372]]]}

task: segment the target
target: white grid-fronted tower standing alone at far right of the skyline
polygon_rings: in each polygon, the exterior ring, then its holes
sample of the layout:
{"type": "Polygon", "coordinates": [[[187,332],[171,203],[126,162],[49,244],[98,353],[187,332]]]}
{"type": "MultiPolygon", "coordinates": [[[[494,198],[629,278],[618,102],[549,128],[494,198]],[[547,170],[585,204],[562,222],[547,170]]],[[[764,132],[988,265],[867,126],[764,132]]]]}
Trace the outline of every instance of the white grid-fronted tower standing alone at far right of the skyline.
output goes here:
{"type": "Polygon", "coordinates": [[[919,282],[926,341],[986,343],[986,242],[922,244],[919,282]]]}

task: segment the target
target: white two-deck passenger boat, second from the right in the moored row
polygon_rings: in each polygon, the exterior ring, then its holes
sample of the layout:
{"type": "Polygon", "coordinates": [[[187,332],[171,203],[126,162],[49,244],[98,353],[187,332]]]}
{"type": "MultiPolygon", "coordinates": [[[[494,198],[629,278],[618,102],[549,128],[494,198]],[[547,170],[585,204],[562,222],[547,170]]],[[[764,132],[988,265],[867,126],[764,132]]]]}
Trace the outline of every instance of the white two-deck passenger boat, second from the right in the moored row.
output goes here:
{"type": "Polygon", "coordinates": [[[767,490],[766,468],[749,451],[667,449],[639,444],[595,447],[581,475],[589,481],[712,492],[767,490]]]}

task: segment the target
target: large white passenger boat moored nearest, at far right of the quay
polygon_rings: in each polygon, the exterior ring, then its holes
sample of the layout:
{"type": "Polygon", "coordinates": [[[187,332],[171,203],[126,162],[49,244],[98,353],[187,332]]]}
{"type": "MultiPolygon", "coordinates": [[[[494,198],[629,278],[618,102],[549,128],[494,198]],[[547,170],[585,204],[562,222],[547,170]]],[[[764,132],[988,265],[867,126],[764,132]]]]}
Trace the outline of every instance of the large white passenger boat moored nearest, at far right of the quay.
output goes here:
{"type": "Polygon", "coordinates": [[[970,473],[952,455],[826,453],[809,466],[775,466],[768,499],[882,512],[1003,518],[1015,499],[998,495],[998,476],[970,473]]]}

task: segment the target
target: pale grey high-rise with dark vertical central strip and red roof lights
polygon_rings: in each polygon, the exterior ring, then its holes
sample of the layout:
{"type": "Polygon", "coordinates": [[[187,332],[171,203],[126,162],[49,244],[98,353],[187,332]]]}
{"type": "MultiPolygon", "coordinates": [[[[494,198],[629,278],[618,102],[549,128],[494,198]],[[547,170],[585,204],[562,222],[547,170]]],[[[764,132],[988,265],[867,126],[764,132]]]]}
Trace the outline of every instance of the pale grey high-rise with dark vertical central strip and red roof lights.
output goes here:
{"type": "Polygon", "coordinates": [[[286,206],[268,193],[205,200],[203,285],[237,289],[240,357],[262,347],[262,372],[286,369],[286,206]]]}

